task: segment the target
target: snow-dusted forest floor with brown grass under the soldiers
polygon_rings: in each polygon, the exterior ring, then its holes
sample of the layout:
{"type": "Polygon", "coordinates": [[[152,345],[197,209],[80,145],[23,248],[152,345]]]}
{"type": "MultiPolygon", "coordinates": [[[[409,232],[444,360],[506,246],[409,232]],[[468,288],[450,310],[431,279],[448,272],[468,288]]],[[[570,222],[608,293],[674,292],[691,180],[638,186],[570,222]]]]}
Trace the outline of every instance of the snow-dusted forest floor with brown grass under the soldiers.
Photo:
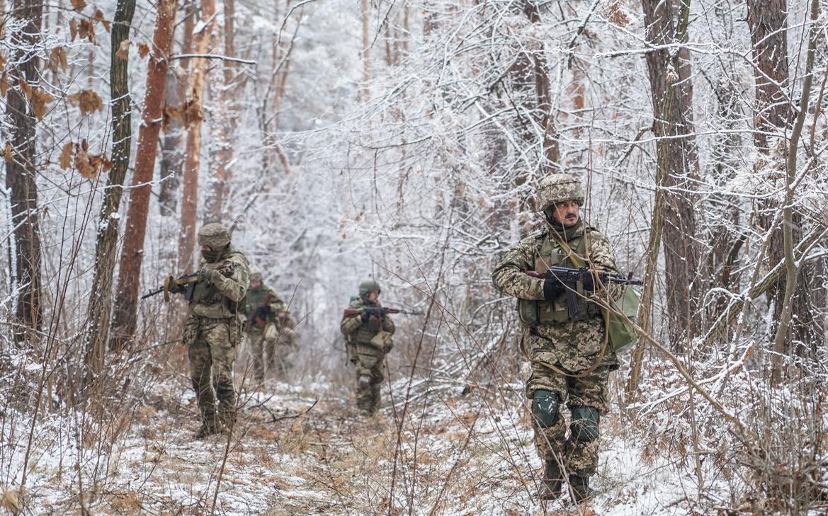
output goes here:
{"type": "MultiPolygon", "coordinates": [[[[199,441],[195,394],[180,371],[162,372],[120,423],[73,413],[38,425],[22,514],[742,514],[715,471],[701,471],[700,490],[695,461],[643,444],[617,410],[602,423],[593,512],[563,501],[544,508],[519,384],[501,386],[505,396],[431,389],[406,405],[412,391],[398,380],[366,419],[351,385],[270,379],[241,390],[233,437],[199,441]],[[118,425],[123,435],[108,437],[118,425]]],[[[31,430],[11,415],[4,488],[20,481],[31,430]]]]}

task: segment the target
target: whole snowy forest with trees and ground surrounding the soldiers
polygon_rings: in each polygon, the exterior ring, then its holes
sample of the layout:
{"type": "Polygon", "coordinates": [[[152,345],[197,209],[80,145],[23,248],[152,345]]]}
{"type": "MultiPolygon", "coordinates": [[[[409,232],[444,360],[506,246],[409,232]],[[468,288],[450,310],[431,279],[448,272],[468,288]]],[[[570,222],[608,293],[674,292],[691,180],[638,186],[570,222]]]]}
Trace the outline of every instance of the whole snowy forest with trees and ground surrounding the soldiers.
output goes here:
{"type": "Polygon", "coordinates": [[[825,2],[0,0],[0,69],[0,513],[828,511],[825,2]],[[539,499],[492,279],[560,173],[643,282],[585,504],[539,499]],[[188,304],[142,296],[211,222],[296,353],[243,337],[196,439],[188,304]],[[407,312],[368,418],[366,279],[407,312]]]}

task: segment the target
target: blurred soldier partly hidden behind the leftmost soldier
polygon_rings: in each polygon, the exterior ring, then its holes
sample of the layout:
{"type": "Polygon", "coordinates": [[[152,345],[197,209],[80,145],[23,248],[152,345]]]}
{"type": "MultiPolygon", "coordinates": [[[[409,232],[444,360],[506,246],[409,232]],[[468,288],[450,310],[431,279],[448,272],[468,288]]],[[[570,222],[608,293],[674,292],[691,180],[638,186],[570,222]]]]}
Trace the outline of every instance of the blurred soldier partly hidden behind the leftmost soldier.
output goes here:
{"type": "Polygon", "coordinates": [[[245,313],[248,316],[248,337],[253,354],[253,378],[259,383],[264,380],[266,362],[268,370],[284,374],[296,355],[296,344],[293,341],[296,321],[287,312],[287,305],[276,289],[264,283],[262,271],[257,268],[250,270],[245,313]]]}

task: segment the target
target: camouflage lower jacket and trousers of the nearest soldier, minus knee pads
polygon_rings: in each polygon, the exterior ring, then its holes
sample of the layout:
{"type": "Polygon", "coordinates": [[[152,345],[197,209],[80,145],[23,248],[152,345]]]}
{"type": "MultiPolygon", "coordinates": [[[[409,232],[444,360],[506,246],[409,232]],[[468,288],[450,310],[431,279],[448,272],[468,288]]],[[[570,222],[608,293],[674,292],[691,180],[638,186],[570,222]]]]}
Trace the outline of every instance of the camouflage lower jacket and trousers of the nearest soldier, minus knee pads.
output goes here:
{"type": "MultiPolygon", "coordinates": [[[[525,339],[532,356],[545,356],[544,350],[549,351],[546,348],[553,346],[551,342],[537,335],[527,334],[525,339]]],[[[531,403],[535,391],[545,389],[558,395],[561,408],[564,404],[570,411],[576,407],[592,407],[597,408],[599,414],[604,414],[607,411],[609,371],[616,367],[614,357],[612,359],[605,364],[602,361],[595,370],[583,376],[579,375],[595,365],[599,360],[599,354],[585,356],[584,362],[589,363],[590,367],[580,372],[566,370],[560,362],[551,364],[555,366],[555,370],[548,366],[548,361],[532,360],[532,376],[527,382],[527,397],[531,403]]],[[[561,408],[558,409],[556,422],[549,427],[542,427],[537,419],[532,417],[537,453],[542,461],[560,461],[570,475],[594,475],[598,467],[600,437],[585,442],[575,439],[571,432],[567,436],[566,418],[561,408]]]]}

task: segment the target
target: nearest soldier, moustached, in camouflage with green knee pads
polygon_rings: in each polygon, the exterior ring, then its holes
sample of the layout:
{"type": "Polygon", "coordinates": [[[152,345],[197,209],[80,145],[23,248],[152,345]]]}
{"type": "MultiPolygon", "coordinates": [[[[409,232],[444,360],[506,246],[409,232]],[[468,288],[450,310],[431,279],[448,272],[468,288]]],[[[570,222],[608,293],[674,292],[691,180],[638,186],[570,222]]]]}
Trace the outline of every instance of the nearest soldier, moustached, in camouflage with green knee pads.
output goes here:
{"type": "Polygon", "coordinates": [[[551,266],[616,270],[609,241],[579,216],[580,180],[551,174],[538,187],[546,231],[528,236],[498,262],[492,273],[498,290],[518,299],[524,327],[522,351],[532,363],[526,394],[532,400],[532,428],[544,462],[540,496],[561,495],[565,473],[576,503],[590,499],[589,478],[598,465],[599,418],[607,410],[607,379],[618,360],[607,345],[604,318],[591,296],[608,292],[592,275],[569,286],[546,270],[551,266]],[[570,253],[574,253],[572,256],[570,253]],[[545,279],[524,270],[546,273],[545,279]],[[576,308],[567,295],[575,290],[576,308]],[[561,408],[571,414],[569,435],[561,408]]]}

